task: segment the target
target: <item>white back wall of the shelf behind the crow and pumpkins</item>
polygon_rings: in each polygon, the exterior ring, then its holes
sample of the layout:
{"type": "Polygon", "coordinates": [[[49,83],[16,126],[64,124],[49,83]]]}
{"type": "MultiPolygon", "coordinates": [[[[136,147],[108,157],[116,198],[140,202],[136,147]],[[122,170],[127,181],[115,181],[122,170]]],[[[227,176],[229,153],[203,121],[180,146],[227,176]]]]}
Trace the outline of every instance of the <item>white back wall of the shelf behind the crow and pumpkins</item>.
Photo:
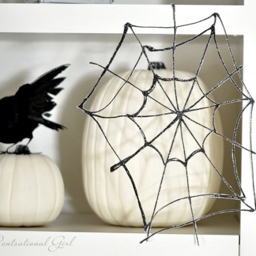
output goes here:
{"type": "MultiPolygon", "coordinates": [[[[65,88],[56,97],[57,106],[52,111],[52,121],[59,122],[67,130],[56,131],[40,126],[34,132],[30,144],[32,152],[43,152],[59,165],[64,178],[67,192],[64,210],[88,211],[89,207],[84,196],[82,185],[81,146],[85,114],[77,109],[82,99],[87,96],[94,85],[100,68],[89,64],[90,61],[106,65],[114,52],[120,35],[76,35],[76,34],[2,34],[0,38],[0,95],[12,95],[24,83],[35,80],[51,68],[61,64],[71,64],[61,75],[67,79],[62,86],[65,88]]],[[[127,49],[117,60],[120,71],[131,68],[135,52],[134,41],[127,37],[127,49]]],[[[143,35],[143,42],[163,47],[170,36],[143,35]]],[[[242,38],[232,37],[234,55],[238,63],[242,62],[240,49],[242,38]]],[[[200,49],[201,43],[191,46],[192,52],[200,49]]],[[[163,60],[167,67],[168,56],[155,56],[155,60],[163,60]]],[[[180,65],[185,71],[191,71],[195,58],[185,54],[180,59],[180,65]]],[[[208,68],[214,68],[214,63],[208,68]]],[[[146,67],[141,67],[146,68],[146,67]]],[[[193,69],[193,68],[192,68],[193,69]]],[[[208,75],[210,76],[210,74],[208,75]]],[[[208,79],[208,77],[201,77],[208,79]]],[[[229,113],[224,114],[229,115],[229,113]]],[[[25,142],[26,143],[26,142],[25,142]]],[[[6,145],[0,144],[0,150],[6,145]]]]}

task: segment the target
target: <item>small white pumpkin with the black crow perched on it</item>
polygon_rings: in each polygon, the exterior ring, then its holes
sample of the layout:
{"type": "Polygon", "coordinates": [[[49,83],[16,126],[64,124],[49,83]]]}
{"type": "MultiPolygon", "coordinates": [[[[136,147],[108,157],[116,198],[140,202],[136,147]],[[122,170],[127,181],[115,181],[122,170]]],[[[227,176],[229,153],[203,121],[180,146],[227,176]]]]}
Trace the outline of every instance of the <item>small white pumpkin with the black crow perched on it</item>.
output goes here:
{"type": "Polygon", "coordinates": [[[0,225],[39,226],[55,220],[64,203],[57,165],[42,154],[0,155],[0,225]]]}

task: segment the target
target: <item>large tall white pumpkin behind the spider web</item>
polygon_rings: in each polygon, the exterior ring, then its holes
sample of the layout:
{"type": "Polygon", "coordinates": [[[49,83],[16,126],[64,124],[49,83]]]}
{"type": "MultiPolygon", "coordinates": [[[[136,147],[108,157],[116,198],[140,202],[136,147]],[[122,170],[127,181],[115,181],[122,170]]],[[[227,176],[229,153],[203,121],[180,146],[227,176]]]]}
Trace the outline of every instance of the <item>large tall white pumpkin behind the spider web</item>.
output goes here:
{"type": "MultiPolygon", "coordinates": [[[[131,71],[119,74],[121,77],[128,79],[131,71]]],[[[172,72],[167,69],[156,70],[160,77],[172,77],[172,72]]],[[[176,71],[176,77],[179,79],[191,79],[193,75],[188,72],[176,71]]],[[[108,116],[117,116],[120,114],[133,114],[138,111],[143,104],[143,93],[138,92],[137,88],[142,91],[150,89],[152,85],[152,72],[146,70],[134,71],[129,78],[130,83],[126,83],[118,77],[113,77],[107,84],[102,86],[90,102],[90,109],[98,111],[97,114],[108,116]],[[131,85],[132,84],[132,85],[131,85]],[[119,91],[120,90],[120,91],[119,91]],[[114,98],[114,95],[118,96],[114,98]],[[108,105],[110,100],[112,103],[108,105]]],[[[204,92],[207,92],[205,84],[197,79],[204,92]]],[[[201,109],[197,111],[180,111],[179,114],[165,114],[170,112],[168,109],[188,109],[199,99],[195,106],[191,109],[205,108],[205,106],[213,105],[208,99],[203,97],[203,93],[199,86],[195,84],[191,95],[190,93],[193,81],[181,82],[176,81],[176,95],[174,82],[160,81],[165,93],[156,84],[156,88],[150,94],[151,98],[147,98],[146,105],[140,115],[152,115],[153,113],[162,113],[155,117],[136,118],[139,126],[142,127],[147,141],[156,137],[159,131],[170,125],[174,119],[180,115],[185,119],[189,126],[189,130],[193,132],[196,140],[200,144],[203,143],[205,137],[209,133],[209,129],[213,129],[213,109],[201,109]],[[168,101],[167,98],[171,101],[168,101]],[[157,99],[164,103],[152,100],[157,99]],[[188,102],[187,101],[188,99],[188,102]],[[172,102],[172,104],[171,104],[172,102]],[[189,121],[187,117],[195,120],[189,121]],[[196,123],[197,122],[197,123],[196,123]],[[198,125],[198,123],[203,126],[198,125]]],[[[95,117],[102,129],[105,131],[106,137],[117,151],[119,158],[125,159],[127,156],[134,154],[139,148],[143,147],[144,140],[139,132],[138,126],[127,117],[104,119],[95,117]]],[[[179,119],[179,118],[178,118],[179,119]]],[[[204,149],[208,156],[205,157],[203,152],[197,152],[189,160],[187,160],[187,169],[181,160],[185,161],[184,154],[188,158],[192,152],[195,152],[199,145],[189,133],[185,125],[182,126],[183,137],[181,138],[180,128],[177,128],[176,121],[170,129],[152,143],[162,153],[163,159],[172,159],[165,170],[162,188],[159,193],[156,211],[174,201],[174,203],[159,210],[152,226],[170,226],[185,223],[192,220],[191,207],[188,199],[188,183],[189,193],[192,196],[192,208],[195,218],[199,218],[207,213],[214,203],[213,198],[197,197],[209,193],[217,193],[220,187],[221,179],[210,161],[217,167],[218,171],[222,170],[224,144],[216,135],[210,135],[204,142],[204,149]],[[176,135],[175,135],[176,134],[176,135]],[[172,139],[174,138],[174,143],[172,139]],[[182,142],[183,141],[183,142],[182,142]],[[185,152],[183,150],[183,144],[185,152]],[[172,146],[171,146],[172,145],[172,146]],[[170,153],[170,148],[171,154],[170,153]],[[180,159],[180,161],[177,161],[180,159]],[[188,172],[188,180],[186,175],[188,172]],[[188,183],[187,183],[188,182],[188,183]]],[[[216,112],[215,122],[218,132],[221,133],[220,116],[216,112]]],[[[126,171],[121,166],[114,172],[110,172],[110,167],[117,164],[120,159],[113,153],[109,147],[105,137],[102,135],[97,123],[89,116],[86,118],[84,128],[82,150],[82,163],[84,175],[84,189],[86,197],[94,212],[102,218],[102,220],[114,225],[124,226],[142,226],[141,211],[138,207],[138,201],[135,197],[134,189],[130,182],[126,171]]],[[[145,147],[133,158],[127,161],[126,166],[134,179],[137,187],[139,199],[144,210],[146,221],[150,222],[155,206],[156,196],[163,175],[163,160],[152,147],[145,147]]]]}

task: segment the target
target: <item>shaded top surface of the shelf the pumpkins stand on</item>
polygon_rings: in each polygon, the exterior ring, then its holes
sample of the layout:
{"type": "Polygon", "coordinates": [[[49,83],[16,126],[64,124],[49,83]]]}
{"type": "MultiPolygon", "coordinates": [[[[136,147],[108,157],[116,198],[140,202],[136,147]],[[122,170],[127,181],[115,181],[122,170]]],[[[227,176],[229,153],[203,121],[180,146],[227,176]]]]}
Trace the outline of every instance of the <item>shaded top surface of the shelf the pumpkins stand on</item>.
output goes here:
{"type": "MultiPolygon", "coordinates": [[[[239,220],[236,213],[221,214],[205,218],[197,222],[198,233],[201,235],[232,235],[240,234],[239,220]]],[[[49,232],[104,232],[104,233],[143,233],[143,228],[113,226],[106,224],[93,213],[61,213],[60,216],[46,226],[40,227],[1,227],[0,230],[13,231],[49,231],[49,232]]],[[[159,228],[153,228],[154,233],[159,228]]],[[[192,225],[178,229],[170,229],[164,233],[194,234],[192,225]]]]}

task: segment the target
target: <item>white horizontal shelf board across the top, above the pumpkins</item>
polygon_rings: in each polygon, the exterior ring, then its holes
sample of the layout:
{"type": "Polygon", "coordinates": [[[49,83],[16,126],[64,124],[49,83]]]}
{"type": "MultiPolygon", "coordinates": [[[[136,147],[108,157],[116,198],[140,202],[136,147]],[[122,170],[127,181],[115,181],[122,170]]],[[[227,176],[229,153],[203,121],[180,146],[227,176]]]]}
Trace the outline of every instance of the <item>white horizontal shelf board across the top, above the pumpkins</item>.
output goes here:
{"type": "MultiPolygon", "coordinates": [[[[176,6],[176,21],[181,25],[218,13],[230,28],[228,33],[240,35],[250,10],[246,6],[180,5],[176,6]]],[[[173,26],[172,8],[170,5],[0,4],[0,32],[119,34],[127,22],[138,26],[173,26]]],[[[203,26],[184,27],[180,34],[197,34],[203,26]]],[[[137,31],[170,33],[156,28],[137,31]]]]}

